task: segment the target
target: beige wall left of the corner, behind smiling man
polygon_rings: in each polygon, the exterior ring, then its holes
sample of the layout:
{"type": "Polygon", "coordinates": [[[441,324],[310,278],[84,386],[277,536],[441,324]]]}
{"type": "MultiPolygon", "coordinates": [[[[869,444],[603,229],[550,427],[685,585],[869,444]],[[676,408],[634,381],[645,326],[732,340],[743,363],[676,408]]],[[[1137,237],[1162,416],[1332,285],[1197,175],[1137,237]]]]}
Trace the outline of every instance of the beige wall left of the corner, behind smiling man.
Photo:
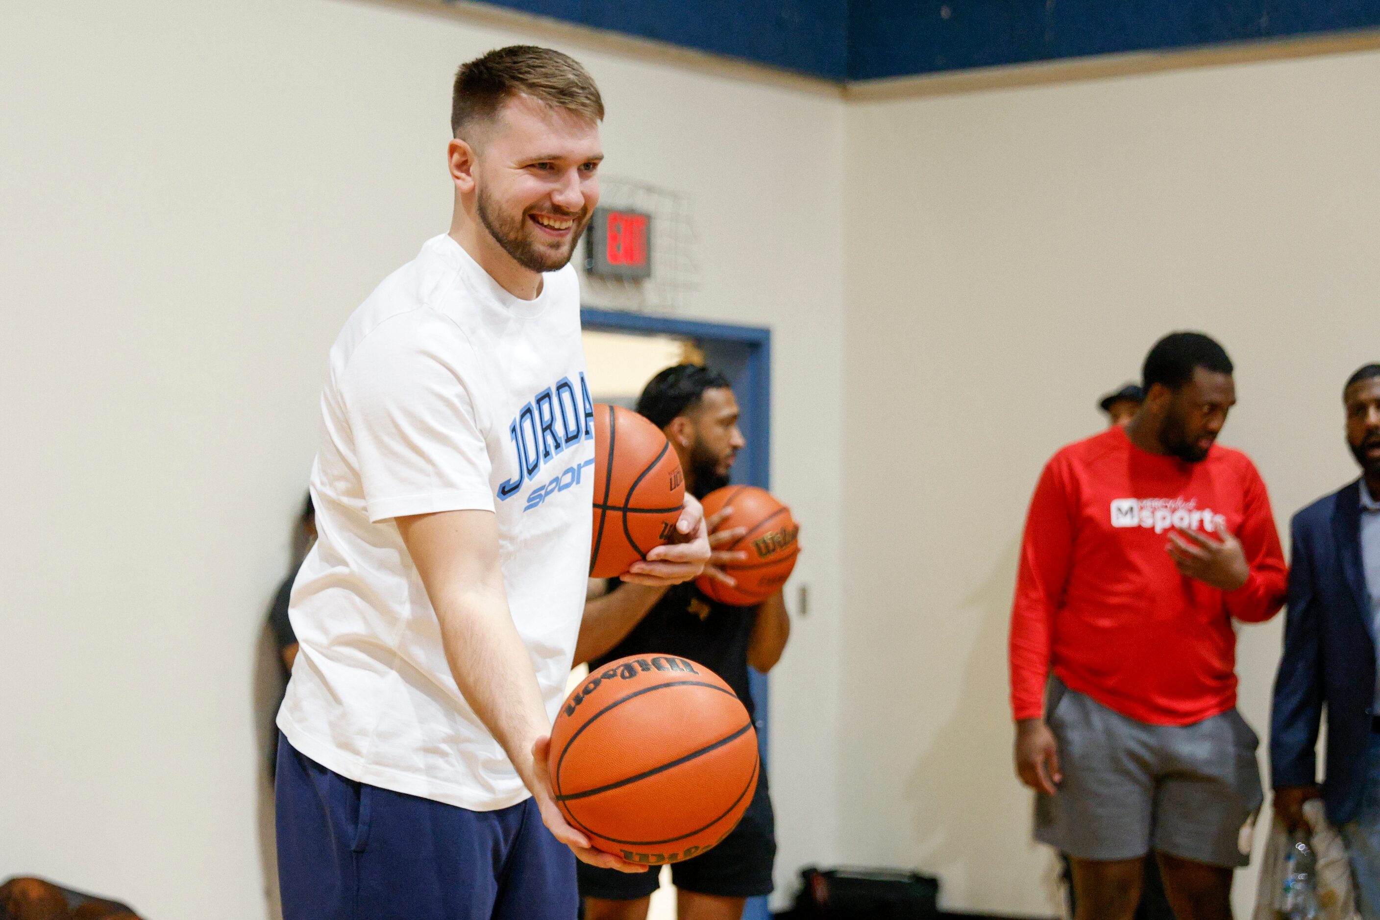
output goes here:
{"type": "MultiPolygon", "coordinates": [[[[326,350],[447,226],[455,66],[527,36],[344,0],[15,3],[0,34],[0,877],[262,917],[261,617],[326,350]]],[[[814,600],[774,674],[788,877],[836,855],[842,102],[569,50],[607,171],[691,200],[686,312],[776,332],[814,600]]]]}

